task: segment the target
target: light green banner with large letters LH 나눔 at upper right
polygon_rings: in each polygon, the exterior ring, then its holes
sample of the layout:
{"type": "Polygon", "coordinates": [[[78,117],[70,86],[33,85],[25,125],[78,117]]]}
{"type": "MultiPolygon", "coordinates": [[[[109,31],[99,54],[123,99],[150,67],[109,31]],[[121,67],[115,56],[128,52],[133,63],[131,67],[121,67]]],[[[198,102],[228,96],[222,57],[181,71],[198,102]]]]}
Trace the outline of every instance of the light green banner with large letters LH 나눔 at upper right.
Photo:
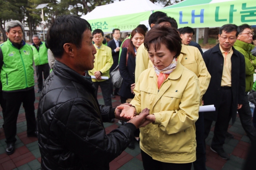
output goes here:
{"type": "Polygon", "coordinates": [[[175,18],[178,27],[221,27],[224,24],[256,25],[256,1],[234,0],[220,3],[160,9],[175,18]]]}

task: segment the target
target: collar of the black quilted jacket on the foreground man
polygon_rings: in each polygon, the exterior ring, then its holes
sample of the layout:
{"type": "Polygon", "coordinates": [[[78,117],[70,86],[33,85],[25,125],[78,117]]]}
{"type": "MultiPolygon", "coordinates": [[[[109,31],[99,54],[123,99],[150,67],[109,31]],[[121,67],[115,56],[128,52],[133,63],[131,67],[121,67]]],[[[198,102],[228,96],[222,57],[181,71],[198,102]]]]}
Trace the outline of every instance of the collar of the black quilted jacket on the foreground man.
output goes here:
{"type": "Polygon", "coordinates": [[[81,85],[86,86],[90,90],[95,90],[93,86],[93,82],[91,81],[90,77],[84,77],[77,73],[76,71],[72,70],[67,65],[59,62],[58,60],[55,60],[54,66],[53,66],[53,72],[59,76],[66,79],[70,79],[74,82],[77,82],[81,85]]]}

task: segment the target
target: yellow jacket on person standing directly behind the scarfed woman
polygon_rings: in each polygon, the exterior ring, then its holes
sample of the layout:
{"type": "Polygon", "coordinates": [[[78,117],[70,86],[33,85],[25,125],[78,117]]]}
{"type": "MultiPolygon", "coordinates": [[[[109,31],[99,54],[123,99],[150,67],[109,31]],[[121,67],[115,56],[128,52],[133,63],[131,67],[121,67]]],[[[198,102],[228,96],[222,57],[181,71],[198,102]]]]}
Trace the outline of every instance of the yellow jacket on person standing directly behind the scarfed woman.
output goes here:
{"type": "MultiPolygon", "coordinates": [[[[200,96],[202,99],[204,93],[206,92],[209,86],[211,76],[206,68],[204,59],[200,51],[198,50],[197,47],[182,45],[181,53],[178,56],[178,60],[184,67],[186,67],[190,71],[193,71],[197,75],[200,82],[200,91],[201,91],[200,96]]],[[[136,68],[135,68],[136,83],[142,71],[150,67],[153,67],[153,64],[151,61],[149,62],[148,52],[145,49],[144,44],[141,44],[137,50],[137,55],[136,55],[136,68]]]]}

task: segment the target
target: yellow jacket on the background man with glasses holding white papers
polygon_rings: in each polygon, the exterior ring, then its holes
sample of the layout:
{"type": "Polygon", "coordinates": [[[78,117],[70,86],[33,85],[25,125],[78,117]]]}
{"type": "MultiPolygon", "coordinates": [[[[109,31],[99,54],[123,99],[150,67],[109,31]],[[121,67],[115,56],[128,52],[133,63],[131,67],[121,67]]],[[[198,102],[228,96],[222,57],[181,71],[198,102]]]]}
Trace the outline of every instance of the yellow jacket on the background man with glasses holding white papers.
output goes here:
{"type": "MultiPolygon", "coordinates": [[[[89,70],[88,73],[91,76],[94,76],[95,71],[101,71],[102,73],[101,76],[107,76],[109,78],[110,77],[109,70],[113,64],[111,48],[103,44],[100,49],[98,49],[98,47],[95,44],[94,44],[94,47],[96,48],[96,51],[97,51],[97,53],[94,55],[95,56],[94,68],[92,70],[89,70]]],[[[102,80],[91,79],[91,80],[93,82],[105,81],[104,79],[102,80]]]]}

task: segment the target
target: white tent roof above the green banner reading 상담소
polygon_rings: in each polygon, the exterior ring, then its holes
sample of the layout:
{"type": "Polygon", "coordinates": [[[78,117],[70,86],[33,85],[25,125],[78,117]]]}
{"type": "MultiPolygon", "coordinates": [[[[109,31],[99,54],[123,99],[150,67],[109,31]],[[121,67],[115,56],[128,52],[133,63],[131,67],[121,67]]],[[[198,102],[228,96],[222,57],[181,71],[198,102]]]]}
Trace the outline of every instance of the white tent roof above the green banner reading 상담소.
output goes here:
{"type": "Polygon", "coordinates": [[[107,5],[97,6],[90,13],[82,16],[85,20],[114,17],[117,15],[135,14],[145,11],[153,11],[162,7],[149,0],[125,0],[107,5]]]}

